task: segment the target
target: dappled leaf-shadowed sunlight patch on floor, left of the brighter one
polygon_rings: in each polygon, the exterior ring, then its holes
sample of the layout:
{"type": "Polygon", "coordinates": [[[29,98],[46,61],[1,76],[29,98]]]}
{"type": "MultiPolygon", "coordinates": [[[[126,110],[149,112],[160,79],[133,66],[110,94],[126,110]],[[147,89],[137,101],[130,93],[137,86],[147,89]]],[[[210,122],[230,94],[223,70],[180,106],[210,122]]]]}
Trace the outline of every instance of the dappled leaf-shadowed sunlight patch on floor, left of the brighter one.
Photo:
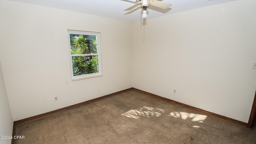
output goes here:
{"type": "Polygon", "coordinates": [[[135,118],[139,119],[140,117],[159,117],[162,113],[164,113],[164,110],[160,108],[152,108],[148,106],[143,106],[142,108],[138,108],[135,110],[129,110],[128,112],[125,112],[124,114],[121,114],[122,116],[126,116],[128,118],[135,118]]]}

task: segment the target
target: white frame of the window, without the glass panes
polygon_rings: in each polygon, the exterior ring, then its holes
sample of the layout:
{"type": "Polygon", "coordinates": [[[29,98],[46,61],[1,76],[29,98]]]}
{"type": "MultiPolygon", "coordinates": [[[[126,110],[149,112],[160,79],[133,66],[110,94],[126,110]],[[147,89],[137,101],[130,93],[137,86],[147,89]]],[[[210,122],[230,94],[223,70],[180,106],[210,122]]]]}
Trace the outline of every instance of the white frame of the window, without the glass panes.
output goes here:
{"type": "Polygon", "coordinates": [[[86,32],[86,31],[78,31],[78,30],[68,30],[68,44],[69,44],[68,48],[69,48],[69,55],[70,55],[70,66],[71,66],[72,81],[73,80],[81,80],[81,79],[86,79],[86,78],[94,78],[94,77],[102,76],[101,58],[100,58],[100,33],[99,32],[86,32]],[[71,54],[70,34],[96,36],[97,54],[71,54]],[[82,75],[79,75],[79,76],[74,76],[72,56],[98,56],[98,72],[97,73],[92,73],[92,74],[82,74],[82,75]]]}

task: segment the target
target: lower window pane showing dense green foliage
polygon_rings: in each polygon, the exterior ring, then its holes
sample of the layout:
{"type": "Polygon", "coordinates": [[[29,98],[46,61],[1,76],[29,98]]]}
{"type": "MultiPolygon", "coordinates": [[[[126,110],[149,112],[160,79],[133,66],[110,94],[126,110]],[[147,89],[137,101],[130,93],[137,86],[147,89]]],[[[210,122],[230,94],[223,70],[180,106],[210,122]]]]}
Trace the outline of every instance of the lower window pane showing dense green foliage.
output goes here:
{"type": "Polygon", "coordinates": [[[72,64],[74,76],[99,72],[98,56],[72,56],[72,64]]]}

